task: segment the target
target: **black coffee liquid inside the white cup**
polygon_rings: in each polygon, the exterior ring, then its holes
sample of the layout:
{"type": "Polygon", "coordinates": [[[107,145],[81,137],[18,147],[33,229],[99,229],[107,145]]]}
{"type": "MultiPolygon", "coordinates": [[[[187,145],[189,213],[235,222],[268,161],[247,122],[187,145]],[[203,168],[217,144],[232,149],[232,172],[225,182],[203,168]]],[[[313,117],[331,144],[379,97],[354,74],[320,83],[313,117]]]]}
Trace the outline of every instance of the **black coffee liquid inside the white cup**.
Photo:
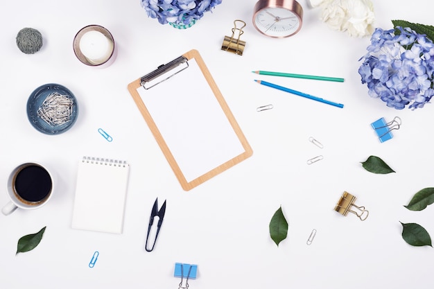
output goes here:
{"type": "Polygon", "coordinates": [[[43,201],[51,192],[49,173],[37,165],[22,168],[15,177],[15,193],[24,202],[37,203],[43,201]]]}

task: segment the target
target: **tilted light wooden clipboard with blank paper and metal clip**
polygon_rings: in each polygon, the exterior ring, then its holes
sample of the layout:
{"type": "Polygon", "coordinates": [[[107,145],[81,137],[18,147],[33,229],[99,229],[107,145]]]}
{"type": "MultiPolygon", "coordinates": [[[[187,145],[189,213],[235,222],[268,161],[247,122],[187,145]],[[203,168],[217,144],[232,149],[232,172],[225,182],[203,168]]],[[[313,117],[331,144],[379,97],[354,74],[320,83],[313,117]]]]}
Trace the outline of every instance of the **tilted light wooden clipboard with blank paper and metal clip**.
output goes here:
{"type": "Polygon", "coordinates": [[[128,85],[182,189],[252,155],[252,148],[197,50],[128,85]]]}

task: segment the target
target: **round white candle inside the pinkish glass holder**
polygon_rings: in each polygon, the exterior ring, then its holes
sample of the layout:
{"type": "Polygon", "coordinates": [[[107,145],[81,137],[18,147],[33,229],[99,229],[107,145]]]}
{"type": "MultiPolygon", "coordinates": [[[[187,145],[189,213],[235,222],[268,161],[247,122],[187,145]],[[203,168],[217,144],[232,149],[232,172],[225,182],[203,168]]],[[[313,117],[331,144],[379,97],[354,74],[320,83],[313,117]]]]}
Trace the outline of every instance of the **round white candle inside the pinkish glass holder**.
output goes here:
{"type": "Polygon", "coordinates": [[[92,64],[101,64],[112,55],[113,42],[99,31],[88,31],[80,39],[80,51],[92,64]]]}

